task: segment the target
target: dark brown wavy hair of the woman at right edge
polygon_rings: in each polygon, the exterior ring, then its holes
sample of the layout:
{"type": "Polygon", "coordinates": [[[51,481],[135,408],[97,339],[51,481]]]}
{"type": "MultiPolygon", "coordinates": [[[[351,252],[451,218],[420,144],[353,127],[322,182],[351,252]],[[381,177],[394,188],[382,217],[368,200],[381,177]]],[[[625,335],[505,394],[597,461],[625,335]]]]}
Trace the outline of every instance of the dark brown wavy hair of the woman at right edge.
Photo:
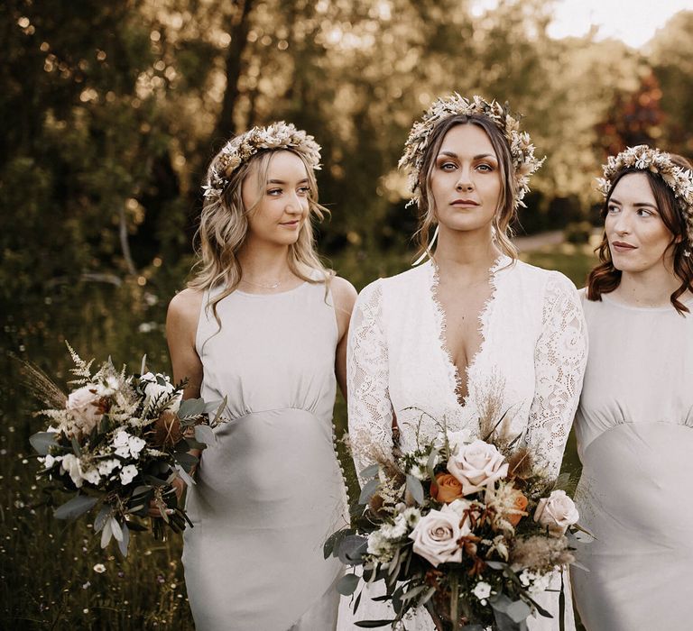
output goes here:
{"type": "MultiPolygon", "coordinates": [[[[681,169],[693,169],[693,165],[682,156],[670,154],[671,161],[681,169]]],[[[674,196],[674,192],[657,173],[652,173],[644,169],[623,169],[618,172],[611,185],[609,194],[605,199],[604,206],[600,215],[605,219],[608,212],[611,196],[619,180],[629,173],[644,173],[647,176],[652,195],[654,196],[657,208],[660,212],[661,221],[667,226],[671,233],[671,242],[668,251],[672,252],[674,274],[681,281],[678,288],[671,294],[671,305],[683,315],[688,313],[688,306],[680,300],[682,294],[687,290],[693,291],[693,261],[691,261],[690,249],[693,244],[688,242],[687,219],[679,209],[679,203],[674,196]]],[[[594,270],[589,272],[587,277],[587,299],[601,300],[602,294],[614,291],[621,283],[621,270],[616,270],[611,259],[609,242],[606,233],[602,235],[602,242],[596,248],[599,256],[599,264],[594,270]]]]}

